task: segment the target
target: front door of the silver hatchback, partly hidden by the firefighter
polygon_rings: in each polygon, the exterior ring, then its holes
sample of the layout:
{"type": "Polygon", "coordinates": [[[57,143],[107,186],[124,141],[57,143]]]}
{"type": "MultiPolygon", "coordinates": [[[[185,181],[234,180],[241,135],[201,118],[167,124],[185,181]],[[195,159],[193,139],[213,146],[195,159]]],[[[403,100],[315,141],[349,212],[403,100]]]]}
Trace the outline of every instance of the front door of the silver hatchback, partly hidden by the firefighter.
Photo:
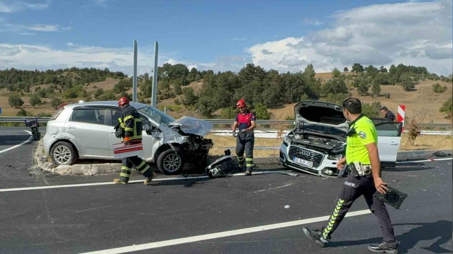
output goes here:
{"type": "MultiPolygon", "coordinates": [[[[111,114],[111,126],[112,126],[112,131],[109,133],[109,143],[110,147],[113,146],[113,144],[121,143],[121,139],[118,139],[115,137],[115,130],[113,129],[116,124],[118,124],[118,118],[121,118],[121,111],[116,110],[116,109],[111,109],[109,110],[111,114]]],[[[141,158],[147,159],[147,158],[152,158],[153,156],[153,146],[155,144],[155,139],[147,135],[144,129],[144,125],[148,124],[150,125],[149,121],[147,118],[143,115],[141,115],[141,121],[143,125],[143,132],[142,132],[142,143],[143,143],[143,154],[140,156],[141,158]]],[[[111,156],[113,157],[113,150],[111,149],[110,151],[111,156]]]]}

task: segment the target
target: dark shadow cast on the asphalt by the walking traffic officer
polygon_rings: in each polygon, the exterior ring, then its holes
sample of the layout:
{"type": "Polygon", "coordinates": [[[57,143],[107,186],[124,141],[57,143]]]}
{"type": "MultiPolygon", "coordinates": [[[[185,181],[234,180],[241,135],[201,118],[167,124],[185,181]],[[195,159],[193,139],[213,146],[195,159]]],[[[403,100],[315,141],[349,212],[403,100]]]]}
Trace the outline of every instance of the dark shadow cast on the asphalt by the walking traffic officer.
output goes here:
{"type": "MultiPolygon", "coordinates": [[[[396,238],[399,245],[399,252],[398,253],[407,253],[410,249],[412,249],[419,241],[426,241],[426,240],[433,240],[437,239],[434,243],[427,247],[421,247],[422,249],[426,249],[428,251],[434,253],[451,253],[451,250],[445,249],[440,245],[448,242],[451,240],[453,235],[453,222],[447,220],[439,220],[436,222],[430,223],[399,223],[393,224],[394,226],[406,226],[406,225],[414,225],[417,226],[412,228],[408,232],[403,234],[397,235],[396,238]]],[[[339,247],[339,246],[352,246],[352,245],[363,245],[363,244],[373,244],[379,243],[382,238],[370,238],[370,239],[363,239],[363,240],[355,240],[355,241],[338,241],[332,242],[332,247],[339,247]]]]}

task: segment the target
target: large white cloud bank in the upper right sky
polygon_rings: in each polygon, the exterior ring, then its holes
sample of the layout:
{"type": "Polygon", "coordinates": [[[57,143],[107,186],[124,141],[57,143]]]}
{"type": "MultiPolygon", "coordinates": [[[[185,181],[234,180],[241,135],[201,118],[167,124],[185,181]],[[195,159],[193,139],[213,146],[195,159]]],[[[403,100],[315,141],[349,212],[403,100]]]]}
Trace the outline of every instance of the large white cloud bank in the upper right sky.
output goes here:
{"type": "MultiPolygon", "coordinates": [[[[333,14],[333,27],[247,49],[253,63],[280,71],[392,63],[448,75],[452,64],[452,2],[371,5],[333,14]]],[[[310,22],[307,20],[306,22],[310,22]]]]}

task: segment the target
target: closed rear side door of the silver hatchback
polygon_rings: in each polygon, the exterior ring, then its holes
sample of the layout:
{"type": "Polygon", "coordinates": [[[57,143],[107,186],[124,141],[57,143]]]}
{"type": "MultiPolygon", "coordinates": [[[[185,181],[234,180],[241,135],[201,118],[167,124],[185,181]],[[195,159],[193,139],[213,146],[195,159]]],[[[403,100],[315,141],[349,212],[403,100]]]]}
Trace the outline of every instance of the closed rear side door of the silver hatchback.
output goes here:
{"type": "Polygon", "coordinates": [[[81,107],[72,110],[65,132],[77,143],[81,157],[110,157],[108,133],[105,124],[105,108],[81,107]]]}

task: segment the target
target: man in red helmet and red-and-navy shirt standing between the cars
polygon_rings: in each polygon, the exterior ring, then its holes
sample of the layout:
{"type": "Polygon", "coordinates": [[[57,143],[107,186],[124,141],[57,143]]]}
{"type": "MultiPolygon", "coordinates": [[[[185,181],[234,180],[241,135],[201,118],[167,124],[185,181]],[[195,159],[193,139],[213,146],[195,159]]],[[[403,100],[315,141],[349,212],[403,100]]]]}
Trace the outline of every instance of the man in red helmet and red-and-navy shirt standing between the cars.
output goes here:
{"type": "Polygon", "coordinates": [[[241,167],[244,167],[244,161],[246,161],[246,172],[244,175],[250,176],[253,171],[253,146],[255,145],[253,129],[256,127],[256,116],[247,109],[244,99],[240,99],[236,103],[236,107],[240,111],[236,115],[235,123],[233,124],[233,137],[237,137],[236,155],[241,167]],[[236,133],[237,127],[239,127],[239,134],[236,133]],[[246,154],[245,158],[244,152],[246,154]]]}

